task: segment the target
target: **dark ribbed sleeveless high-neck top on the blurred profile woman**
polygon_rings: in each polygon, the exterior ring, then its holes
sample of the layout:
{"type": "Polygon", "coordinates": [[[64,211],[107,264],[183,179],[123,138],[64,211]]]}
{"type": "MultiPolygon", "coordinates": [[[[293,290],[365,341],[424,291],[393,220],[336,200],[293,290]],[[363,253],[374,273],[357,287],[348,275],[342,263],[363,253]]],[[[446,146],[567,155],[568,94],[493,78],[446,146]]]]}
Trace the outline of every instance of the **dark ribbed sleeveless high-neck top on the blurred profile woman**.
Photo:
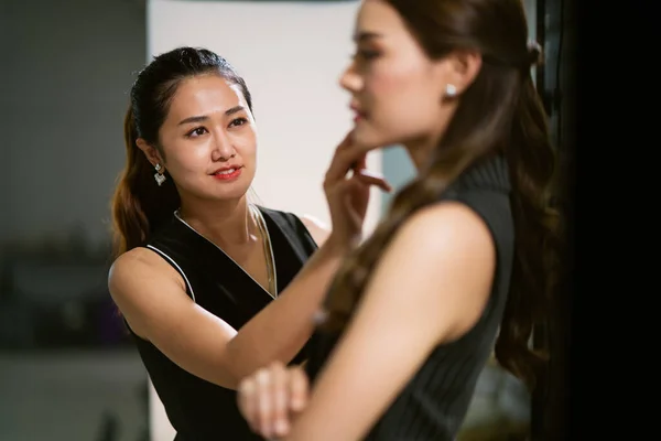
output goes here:
{"type": "MultiPolygon", "coordinates": [[[[477,378],[500,325],[514,252],[510,181],[501,157],[465,172],[441,197],[473,208],[491,232],[497,249],[496,278],[481,318],[459,340],[437,346],[394,402],[372,427],[369,441],[452,441],[466,417],[477,378]]],[[[306,368],[314,380],[338,340],[317,331],[306,368]]],[[[392,354],[397,357],[397,354],[392,354]]]]}

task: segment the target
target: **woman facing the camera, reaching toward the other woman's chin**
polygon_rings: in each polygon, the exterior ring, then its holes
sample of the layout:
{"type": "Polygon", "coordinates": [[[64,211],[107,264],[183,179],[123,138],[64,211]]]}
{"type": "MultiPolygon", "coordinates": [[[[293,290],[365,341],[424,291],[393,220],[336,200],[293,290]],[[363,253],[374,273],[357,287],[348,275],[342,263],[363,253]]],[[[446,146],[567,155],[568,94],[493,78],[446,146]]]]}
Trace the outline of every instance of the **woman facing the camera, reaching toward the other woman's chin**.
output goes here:
{"type": "Polygon", "coordinates": [[[251,96],[210,51],[156,56],[130,97],[110,293],[177,440],[259,440],[236,405],[239,379],[273,361],[304,362],[314,314],[360,234],[370,186],[388,184],[365,172],[366,152],[347,153],[345,140],[326,179],[332,233],[250,204],[251,96]]]}

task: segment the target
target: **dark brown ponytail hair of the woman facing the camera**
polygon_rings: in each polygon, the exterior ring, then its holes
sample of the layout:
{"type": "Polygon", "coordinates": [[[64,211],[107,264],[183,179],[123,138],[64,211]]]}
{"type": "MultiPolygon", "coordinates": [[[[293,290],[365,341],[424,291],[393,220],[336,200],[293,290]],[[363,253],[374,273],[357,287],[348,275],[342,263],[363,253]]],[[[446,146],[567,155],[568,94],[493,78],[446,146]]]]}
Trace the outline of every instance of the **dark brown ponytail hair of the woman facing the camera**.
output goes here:
{"type": "Polygon", "coordinates": [[[136,141],[143,138],[164,158],[159,130],[177,86],[192,76],[209,74],[238,85],[252,111],[252,99],[243,78],[225,58],[205,49],[177,47],[154,57],[138,74],[123,127],[127,163],[111,202],[115,258],[140,246],[150,233],[172,217],[181,202],[171,176],[158,186],[154,168],[136,141]]]}

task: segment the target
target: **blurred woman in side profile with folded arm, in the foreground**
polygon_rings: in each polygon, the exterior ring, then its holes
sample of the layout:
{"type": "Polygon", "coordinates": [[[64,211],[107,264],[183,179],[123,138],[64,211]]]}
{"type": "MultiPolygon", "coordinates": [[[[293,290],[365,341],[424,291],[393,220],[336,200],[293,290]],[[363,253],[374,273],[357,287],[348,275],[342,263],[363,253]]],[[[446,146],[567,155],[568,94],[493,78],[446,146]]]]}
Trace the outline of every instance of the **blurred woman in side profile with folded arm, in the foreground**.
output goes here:
{"type": "Polygon", "coordinates": [[[530,346],[559,251],[541,50],[521,0],[364,0],[354,37],[354,141],[418,174],[338,270],[305,372],[259,369],[239,407],[281,441],[452,441],[494,352],[531,390],[552,355],[530,346]]]}

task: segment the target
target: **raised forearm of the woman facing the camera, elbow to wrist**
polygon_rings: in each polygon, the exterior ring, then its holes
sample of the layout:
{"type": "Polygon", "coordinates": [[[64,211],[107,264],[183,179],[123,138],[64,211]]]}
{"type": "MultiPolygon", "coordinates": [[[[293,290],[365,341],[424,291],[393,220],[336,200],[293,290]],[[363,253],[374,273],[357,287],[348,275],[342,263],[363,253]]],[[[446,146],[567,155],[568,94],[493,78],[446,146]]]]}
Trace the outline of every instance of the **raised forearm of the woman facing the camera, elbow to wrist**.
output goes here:
{"type": "Polygon", "coordinates": [[[286,364],[301,351],[345,255],[333,243],[324,244],[279,298],[238,331],[226,358],[237,380],[273,361],[286,364]]]}

